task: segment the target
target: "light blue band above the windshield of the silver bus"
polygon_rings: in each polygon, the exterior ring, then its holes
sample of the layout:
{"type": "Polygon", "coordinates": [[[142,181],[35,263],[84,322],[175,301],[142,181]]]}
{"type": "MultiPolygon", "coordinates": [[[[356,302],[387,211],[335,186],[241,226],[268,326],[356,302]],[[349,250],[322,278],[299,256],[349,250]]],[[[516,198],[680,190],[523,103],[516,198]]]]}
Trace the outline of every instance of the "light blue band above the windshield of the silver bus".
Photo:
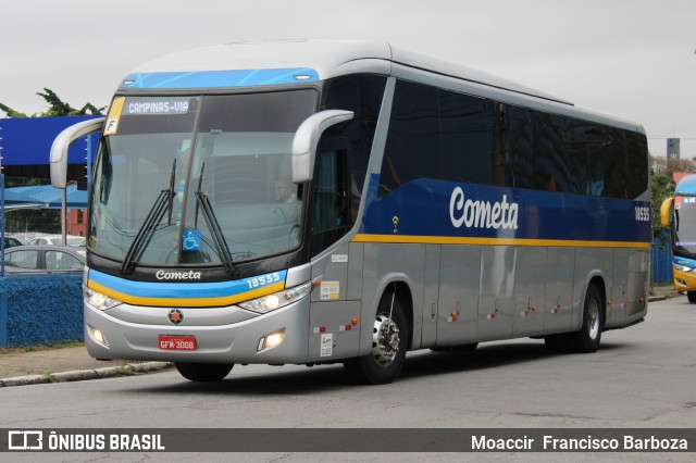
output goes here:
{"type": "Polygon", "coordinates": [[[121,88],[222,88],[301,84],[316,80],[319,80],[319,73],[309,67],[139,73],[126,76],[121,83],[121,88]]]}

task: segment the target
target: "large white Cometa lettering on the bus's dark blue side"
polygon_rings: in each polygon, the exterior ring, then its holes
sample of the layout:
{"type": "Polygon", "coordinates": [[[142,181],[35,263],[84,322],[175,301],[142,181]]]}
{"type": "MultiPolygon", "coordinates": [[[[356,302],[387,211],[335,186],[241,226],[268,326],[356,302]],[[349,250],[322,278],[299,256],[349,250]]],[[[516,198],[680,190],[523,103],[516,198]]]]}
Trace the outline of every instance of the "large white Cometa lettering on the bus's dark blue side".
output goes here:
{"type": "Polygon", "coordinates": [[[502,195],[502,201],[473,201],[464,198],[464,191],[457,187],[449,199],[449,218],[456,228],[462,225],[467,228],[505,228],[518,229],[518,213],[520,204],[508,202],[502,195]]]}

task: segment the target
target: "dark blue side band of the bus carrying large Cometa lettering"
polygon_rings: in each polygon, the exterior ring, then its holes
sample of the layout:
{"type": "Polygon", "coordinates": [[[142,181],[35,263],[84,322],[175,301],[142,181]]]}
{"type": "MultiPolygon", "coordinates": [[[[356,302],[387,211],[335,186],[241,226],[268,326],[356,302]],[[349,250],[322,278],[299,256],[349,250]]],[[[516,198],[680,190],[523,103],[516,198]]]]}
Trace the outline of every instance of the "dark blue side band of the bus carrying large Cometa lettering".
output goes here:
{"type": "Polygon", "coordinates": [[[431,179],[408,183],[378,198],[378,184],[380,175],[374,174],[361,235],[506,241],[650,241],[647,201],[431,179]]]}

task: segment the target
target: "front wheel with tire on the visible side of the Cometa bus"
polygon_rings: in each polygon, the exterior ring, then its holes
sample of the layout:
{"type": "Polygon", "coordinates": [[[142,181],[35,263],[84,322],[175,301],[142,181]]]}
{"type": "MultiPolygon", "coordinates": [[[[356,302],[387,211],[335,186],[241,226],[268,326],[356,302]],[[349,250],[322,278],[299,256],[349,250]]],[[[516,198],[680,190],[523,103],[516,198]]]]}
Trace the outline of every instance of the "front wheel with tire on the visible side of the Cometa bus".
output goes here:
{"type": "Polygon", "coordinates": [[[408,324],[398,299],[394,299],[389,320],[390,304],[391,297],[383,297],[373,324],[372,351],[368,355],[344,362],[346,372],[360,384],[393,383],[403,367],[408,349],[408,324]]]}

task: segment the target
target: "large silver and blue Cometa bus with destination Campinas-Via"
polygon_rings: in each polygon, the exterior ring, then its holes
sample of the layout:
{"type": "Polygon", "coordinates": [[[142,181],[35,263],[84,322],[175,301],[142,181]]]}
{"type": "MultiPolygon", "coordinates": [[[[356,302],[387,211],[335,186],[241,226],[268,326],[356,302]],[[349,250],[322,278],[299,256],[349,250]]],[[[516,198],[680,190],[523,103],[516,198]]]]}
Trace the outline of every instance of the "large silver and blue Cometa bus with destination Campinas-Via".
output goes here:
{"type": "Polygon", "coordinates": [[[343,363],[544,339],[594,352],[644,320],[643,128],[378,41],[203,48],[121,80],[92,166],[86,345],[173,362],[343,363]]]}

